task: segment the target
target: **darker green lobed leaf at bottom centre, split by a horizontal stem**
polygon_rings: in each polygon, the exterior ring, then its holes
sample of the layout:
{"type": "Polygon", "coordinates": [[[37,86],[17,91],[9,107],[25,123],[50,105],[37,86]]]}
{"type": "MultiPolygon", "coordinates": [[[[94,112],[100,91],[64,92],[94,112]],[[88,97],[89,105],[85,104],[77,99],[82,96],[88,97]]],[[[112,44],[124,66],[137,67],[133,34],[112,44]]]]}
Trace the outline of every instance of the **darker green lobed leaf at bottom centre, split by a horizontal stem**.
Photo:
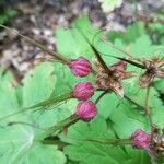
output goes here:
{"type": "Polygon", "coordinates": [[[69,128],[67,142],[72,145],[65,148],[65,153],[72,160],[81,163],[119,163],[124,159],[125,153],[119,148],[112,148],[99,143],[83,141],[89,139],[108,139],[114,134],[107,129],[107,125],[103,118],[94,119],[91,124],[79,121],[69,128]],[[117,157],[119,157],[119,160],[117,157]]]}

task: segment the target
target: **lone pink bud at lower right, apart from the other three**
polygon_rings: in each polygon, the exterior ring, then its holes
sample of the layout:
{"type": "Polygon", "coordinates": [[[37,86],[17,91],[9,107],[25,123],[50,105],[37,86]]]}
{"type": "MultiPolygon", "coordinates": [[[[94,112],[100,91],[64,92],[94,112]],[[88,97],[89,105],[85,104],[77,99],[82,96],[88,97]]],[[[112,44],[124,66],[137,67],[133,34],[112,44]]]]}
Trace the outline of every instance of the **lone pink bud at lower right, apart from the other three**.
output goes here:
{"type": "Polygon", "coordinates": [[[145,149],[150,148],[151,137],[145,131],[138,129],[131,136],[132,144],[137,149],[145,149]]]}

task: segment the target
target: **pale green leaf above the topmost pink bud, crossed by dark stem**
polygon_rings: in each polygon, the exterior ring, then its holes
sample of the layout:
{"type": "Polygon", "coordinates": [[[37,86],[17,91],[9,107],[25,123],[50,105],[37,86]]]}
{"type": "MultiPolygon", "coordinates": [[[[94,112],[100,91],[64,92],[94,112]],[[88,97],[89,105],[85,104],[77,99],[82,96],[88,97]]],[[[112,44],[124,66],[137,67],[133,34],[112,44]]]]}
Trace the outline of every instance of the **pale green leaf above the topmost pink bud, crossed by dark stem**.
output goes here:
{"type": "Polygon", "coordinates": [[[89,38],[91,40],[97,32],[97,30],[91,25],[87,17],[79,19],[72,24],[72,28],[58,28],[56,31],[57,50],[59,54],[68,56],[69,58],[85,56],[91,59],[93,51],[83,36],[78,32],[77,25],[80,30],[85,32],[86,36],[90,36],[89,38]]]}

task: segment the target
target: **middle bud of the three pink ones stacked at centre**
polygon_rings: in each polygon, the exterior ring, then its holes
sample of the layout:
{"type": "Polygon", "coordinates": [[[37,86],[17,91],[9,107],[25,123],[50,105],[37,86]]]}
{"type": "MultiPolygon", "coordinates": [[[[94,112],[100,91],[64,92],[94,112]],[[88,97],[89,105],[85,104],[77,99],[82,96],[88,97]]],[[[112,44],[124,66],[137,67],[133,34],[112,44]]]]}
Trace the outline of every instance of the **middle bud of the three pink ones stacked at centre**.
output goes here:
{"type": "Polygon", "coordinates": [[[73,97],[79,101],[86,101],[94,94],[94,87],[90,82],[78,83],[73,89],[73,97]]]}

